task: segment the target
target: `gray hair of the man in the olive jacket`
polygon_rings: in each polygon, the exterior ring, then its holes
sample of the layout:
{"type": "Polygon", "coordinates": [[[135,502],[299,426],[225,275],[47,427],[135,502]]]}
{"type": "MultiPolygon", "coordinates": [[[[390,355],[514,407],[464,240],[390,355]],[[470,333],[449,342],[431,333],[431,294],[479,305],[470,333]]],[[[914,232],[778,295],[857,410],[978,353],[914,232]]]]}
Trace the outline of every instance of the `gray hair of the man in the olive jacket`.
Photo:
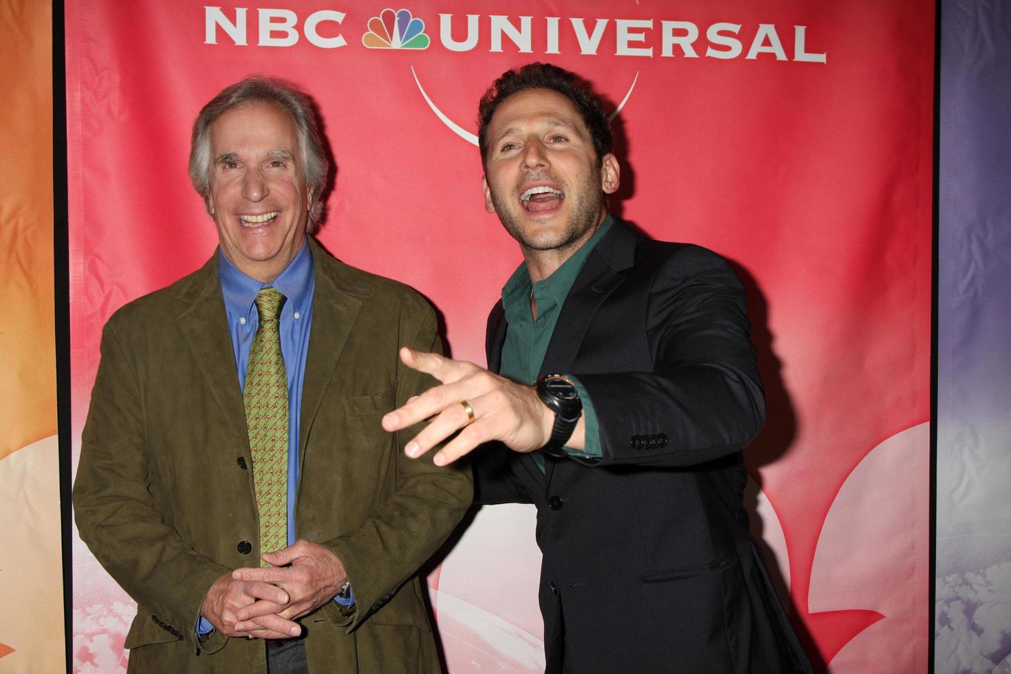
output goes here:
{"type": "Polygon", "coordinates": [[[318,228],[323,218],[323,196],[327,188],[330,162],[324,150],[312,102],[308,96],[283,80],[253,75],[225,87],[203,106],[193,122],[193,134],[190,137],[189,175],[193,187],[203,197],[203,203],[210,212],[210,126],[232,108],[255,102],[278,105],[295,122],[301,163],[305,171],[305,185],[312,188],[312,205],[308,214],[308,231],[312,233],[318,228]]]}

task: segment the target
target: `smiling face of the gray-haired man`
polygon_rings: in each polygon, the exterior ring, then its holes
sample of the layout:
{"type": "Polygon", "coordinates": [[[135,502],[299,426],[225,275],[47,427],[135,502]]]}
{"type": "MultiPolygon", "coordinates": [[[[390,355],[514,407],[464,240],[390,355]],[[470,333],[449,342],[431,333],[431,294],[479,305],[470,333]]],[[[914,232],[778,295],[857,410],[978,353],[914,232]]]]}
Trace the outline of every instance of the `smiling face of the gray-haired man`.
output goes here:
{"type": "Polygon", "coordinates": [[[210,125],[210,158],[208,210],[221,251],[270,283],[301,249],[312,201],[295,122],[272,103],[231,108],[210,125]]]}

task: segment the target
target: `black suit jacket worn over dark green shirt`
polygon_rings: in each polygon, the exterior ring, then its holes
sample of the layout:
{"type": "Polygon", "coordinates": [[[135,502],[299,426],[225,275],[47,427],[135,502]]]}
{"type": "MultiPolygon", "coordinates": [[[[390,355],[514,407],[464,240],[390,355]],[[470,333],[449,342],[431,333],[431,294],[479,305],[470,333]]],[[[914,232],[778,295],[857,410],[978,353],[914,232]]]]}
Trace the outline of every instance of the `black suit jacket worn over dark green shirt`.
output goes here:
{"type": "MultiPolygon", "coordinates": [[[[537,506],[548,672],[809,671],[755,554],[741,449],[765,406],[726,262],[616,218],[561,309],[541,374],[592,400],[600,459],[489,447],[475,500],[537,506]]],[[[498,370],[507,322],[488,318],[498,370]]]]}

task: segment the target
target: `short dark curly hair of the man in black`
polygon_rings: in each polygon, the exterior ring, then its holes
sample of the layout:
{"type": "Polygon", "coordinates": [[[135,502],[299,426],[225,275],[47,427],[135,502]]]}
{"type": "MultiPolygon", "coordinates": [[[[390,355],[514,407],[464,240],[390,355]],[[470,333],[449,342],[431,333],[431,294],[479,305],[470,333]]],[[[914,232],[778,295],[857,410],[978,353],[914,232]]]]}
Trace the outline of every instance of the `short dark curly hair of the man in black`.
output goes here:
{"type": "Polygon", "coordinates": [[[604,102],[593,93],[589,83],[575,73],[552,64],[533,63],[505,71],[481,96],[481,102],[477,105],[477,147],[481,151],[481,166],[485,166],[487,162],[488,124],[491,123],[495,110],[510,96],[529,89],[550,89],[572,101],[589,130],[596,151],[596,161],[604,162],[604,156],[614,146],[611,122],[604,112],[604,102]]]}

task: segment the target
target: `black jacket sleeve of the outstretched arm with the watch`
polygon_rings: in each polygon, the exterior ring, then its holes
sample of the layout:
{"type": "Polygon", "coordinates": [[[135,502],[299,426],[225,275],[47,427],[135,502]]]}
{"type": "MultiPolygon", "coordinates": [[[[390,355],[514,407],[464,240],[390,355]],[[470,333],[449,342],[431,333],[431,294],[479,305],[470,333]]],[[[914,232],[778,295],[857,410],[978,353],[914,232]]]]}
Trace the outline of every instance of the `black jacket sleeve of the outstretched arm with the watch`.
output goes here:
{"type": "Polygon", "coordinates": [[[676,249],[649,281],[645,321],[652,371],[572,373],[592,399],[603,454],[576,460],[679,468],[740,451],[765,403],[736,275],[706,249],[676,249]]]}

